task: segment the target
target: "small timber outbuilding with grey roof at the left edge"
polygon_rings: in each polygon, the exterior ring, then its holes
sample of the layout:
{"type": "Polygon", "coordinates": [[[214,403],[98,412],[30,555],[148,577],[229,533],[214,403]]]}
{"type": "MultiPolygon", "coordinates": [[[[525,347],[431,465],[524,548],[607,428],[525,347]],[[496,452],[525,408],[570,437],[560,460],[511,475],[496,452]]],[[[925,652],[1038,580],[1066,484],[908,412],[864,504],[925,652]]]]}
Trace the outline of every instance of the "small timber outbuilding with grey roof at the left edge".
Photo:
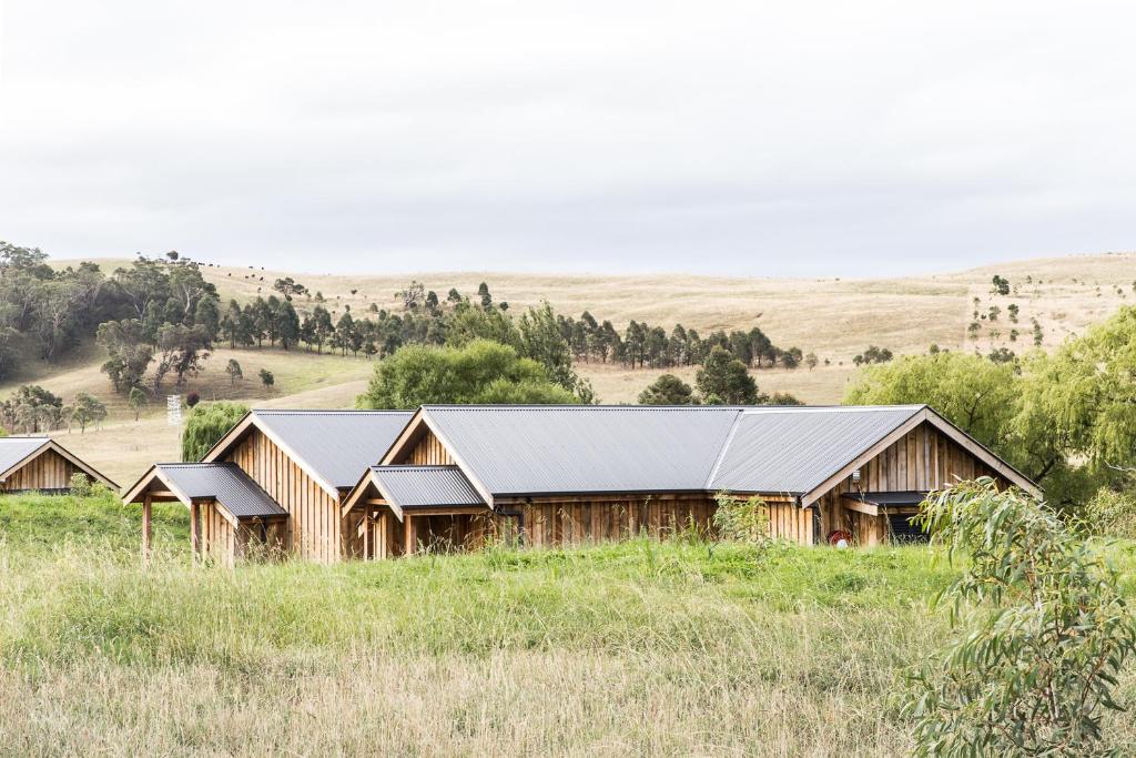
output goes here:
{"type": "Polygon", "coordinates": [[[51,438],[0,438],[0,492],[64,493],[70,490],[70,480],[75,474],[84,474],[92,482],[118,489],[117,484],[51,438]]]}

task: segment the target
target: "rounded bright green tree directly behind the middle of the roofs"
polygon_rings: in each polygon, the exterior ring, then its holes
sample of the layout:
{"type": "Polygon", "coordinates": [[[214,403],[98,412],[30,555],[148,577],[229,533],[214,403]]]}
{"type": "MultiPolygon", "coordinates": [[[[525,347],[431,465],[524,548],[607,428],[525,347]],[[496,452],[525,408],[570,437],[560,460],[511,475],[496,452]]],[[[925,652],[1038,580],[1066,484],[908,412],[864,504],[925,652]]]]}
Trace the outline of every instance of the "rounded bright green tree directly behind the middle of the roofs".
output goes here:
{"type": "Polygon", "coordinates": [[[408,345],[375,366],[360,408],[423,403],[574,403],[545,368],[510,345],[475,340],[462,348],[408,345]]]}

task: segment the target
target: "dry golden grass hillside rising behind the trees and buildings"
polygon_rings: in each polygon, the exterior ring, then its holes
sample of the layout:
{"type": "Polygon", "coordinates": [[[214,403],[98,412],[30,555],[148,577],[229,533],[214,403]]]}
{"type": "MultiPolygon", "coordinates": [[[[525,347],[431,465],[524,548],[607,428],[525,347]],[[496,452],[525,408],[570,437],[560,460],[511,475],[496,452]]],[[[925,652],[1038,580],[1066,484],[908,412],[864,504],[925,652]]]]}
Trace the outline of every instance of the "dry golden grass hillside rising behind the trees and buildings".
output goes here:
{"type": "MultiPolygon", "coordinates": [[[[67,265],[68,261],[58,261],[67,265]]],[[[106,269],[127,261],[101,261],[106,269]]],[[[891,280],[765,280],[721,278],[692,275],[593,276],[552,274],[507,274],[491,272],[429,273],[352,276],[296,274],[262,269],[204,268],[223,298],[245,300],[272,293],[277,277],[292,276],[312,292],[319,291],[332,309],[350,303],[362,313],[371,303],[399,307],[395,292],[411,280],[425,283],[444,297],[454,286],[474,293],[487,282],[494,299],[507,300],[516,310],[549,300],[560,311],[578,315],[590,310],[599,319],[610,319],[623,328],[630,319],[660,324],[668,330],[676,322],[705,333],[724,328],[761,326],[782,345],[816,352],[821,365],[809,370],[767,369],[758,374],[762,391],[788,391],[813,402],[838,402],[853,377],[852,356],[868,344],[896,353],[921,352],[930,343],[951,349],[983,352],[1005,345],[1017,352],[1031,349],[1031,319],[1043,328],[1045,347],[1059,344],[1125,303],[1136,303],[1136,253],[1070,256],[999,264],[983,268],[891,280]],[[1010,281],[1010,295],[991,293],[991,280],[999,274],[1010,281]],[[978,299],[976,306],[975,299],[978,299]],[[1008,307],[1018,305],[1017,324],[1008,307]],[[967,326],[974,310],[988,314],[1001,309],[999,319],[980,319],[977,339],[967,326]],[[1011,341],[1011,330],[1020,336],[1011,341]],[[824,361],[827,360],[826,366],[824,361]]],[[[310,307],[296,300],[300,310],[310,307]]],[[[140,422],[118,399],[112,399],[99,366],[103,357],[89,348],[65,365],[49,367],[30,361],[12,381],[0,385],[0,397],[17,384],[35,381],[70,398],[86,391],[108,401],[111,417],[102,430],[64,435],[66,444],[126,483],[158,458],[177,455],[176,430],[165,426],[157,408],[140,422]]],[[[582,365],[580,373],[594,383],[601,400],[632,402],[658,372],[626,370],[611,366],[582,365]]],[[[195,390],[206,399],[234,398],[257,406],[335,408],[349,407],[366,384],[371,366],[359,358],[315,356],[306,350],[218,350],[207,368],[183,391],[195,390]],[[229,358],[236,358],[248,377],[231,386],[224,374],[229,358]],[[265,391],[256,381],[260,368],[276,375],[276,386],[265,391]]],[[[677,372],[693,378],[693,370],[677,372]]]]}

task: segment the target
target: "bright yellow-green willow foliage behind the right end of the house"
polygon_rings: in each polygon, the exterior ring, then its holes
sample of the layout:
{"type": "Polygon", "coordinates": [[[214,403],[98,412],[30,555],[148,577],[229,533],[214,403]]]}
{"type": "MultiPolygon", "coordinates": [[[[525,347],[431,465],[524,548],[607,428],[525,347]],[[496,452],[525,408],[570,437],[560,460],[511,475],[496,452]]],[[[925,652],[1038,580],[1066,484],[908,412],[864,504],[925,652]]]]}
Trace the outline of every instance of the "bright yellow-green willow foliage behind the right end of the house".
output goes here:
{"type": "Polygon", "coordinates": [[[850,403],[926,402],[1045,488],[1087,502],[1136,488],[1136,308],[1020,363],[939,352],[866,370],[850,403]]]}

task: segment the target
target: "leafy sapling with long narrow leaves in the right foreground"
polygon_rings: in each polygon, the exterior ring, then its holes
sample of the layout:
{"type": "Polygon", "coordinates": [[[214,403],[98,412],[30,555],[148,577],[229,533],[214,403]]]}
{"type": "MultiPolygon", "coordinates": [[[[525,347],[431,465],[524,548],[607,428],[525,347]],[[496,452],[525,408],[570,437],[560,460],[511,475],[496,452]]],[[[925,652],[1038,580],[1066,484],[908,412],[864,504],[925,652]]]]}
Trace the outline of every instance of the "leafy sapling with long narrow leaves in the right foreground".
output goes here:
{"type": "Polygon", "coordinates": [[[911,676],[916,755],[1103,751],[1117,675],[1136,651],[1118,572],[1044,503],[993,480],[928,499],[919,516],[969,555],[937,598],[955,635],[911,676]]]}

